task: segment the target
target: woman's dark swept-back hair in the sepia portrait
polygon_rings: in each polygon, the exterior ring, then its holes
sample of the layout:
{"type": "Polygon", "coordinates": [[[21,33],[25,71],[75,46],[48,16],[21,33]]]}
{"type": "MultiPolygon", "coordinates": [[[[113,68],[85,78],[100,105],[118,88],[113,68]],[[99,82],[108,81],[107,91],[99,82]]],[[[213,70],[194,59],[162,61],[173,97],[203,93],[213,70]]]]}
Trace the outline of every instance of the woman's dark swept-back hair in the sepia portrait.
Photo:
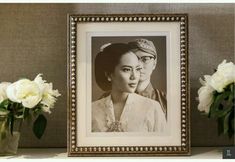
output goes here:
{"type": "Polygon", "coordinates": [[[130,52],[130,50],[130,46],[125,43],[114,43],[105,47],[102,52],[96,55],[95,79],[102,90],[111,90],[111,82],[108,81],[107,75],[114,72],[121,56],[130,52]]]}

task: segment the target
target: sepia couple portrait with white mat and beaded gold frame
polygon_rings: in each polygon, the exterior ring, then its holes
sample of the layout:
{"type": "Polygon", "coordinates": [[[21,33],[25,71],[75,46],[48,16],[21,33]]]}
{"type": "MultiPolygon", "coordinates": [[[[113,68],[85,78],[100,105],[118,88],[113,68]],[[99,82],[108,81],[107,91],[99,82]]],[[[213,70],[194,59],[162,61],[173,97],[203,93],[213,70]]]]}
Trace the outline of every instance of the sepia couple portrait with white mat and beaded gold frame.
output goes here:
{"type": "Polygon", "coordinates": [[[187,14],[68,16],[68,155],[190,155],[187,14]]]}

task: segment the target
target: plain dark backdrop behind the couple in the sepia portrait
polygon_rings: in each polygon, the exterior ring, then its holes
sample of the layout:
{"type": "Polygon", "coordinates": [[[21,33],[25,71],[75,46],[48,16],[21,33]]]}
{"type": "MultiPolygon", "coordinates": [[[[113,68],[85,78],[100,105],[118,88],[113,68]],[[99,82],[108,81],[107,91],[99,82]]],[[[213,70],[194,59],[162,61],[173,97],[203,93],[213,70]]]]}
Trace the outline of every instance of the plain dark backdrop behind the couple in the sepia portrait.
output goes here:
{"type": "Polygon", "coordinates": [[[106,43],[128,43],[138,38],[144,38],[152,41],[157,50],[157,66],[152,73],[151,82],[155,88],[166,93],[166,36],[118,36],[118,37],[92,37],[92,101],[98,100],[104,91],[102,91],[95,81],[94,62],[95,57],[100,51],[100,47],[106,43]]]}

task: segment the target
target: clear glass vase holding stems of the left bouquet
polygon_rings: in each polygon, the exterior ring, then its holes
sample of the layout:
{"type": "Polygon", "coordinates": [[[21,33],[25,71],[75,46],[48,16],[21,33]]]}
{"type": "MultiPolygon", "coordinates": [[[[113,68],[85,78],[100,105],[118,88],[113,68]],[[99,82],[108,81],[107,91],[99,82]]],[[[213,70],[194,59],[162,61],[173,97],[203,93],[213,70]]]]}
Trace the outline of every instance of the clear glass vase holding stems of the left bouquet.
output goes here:
{"type": "Polygon", "coordinates": [[[15,119],[13,132],[7,125],[7,116],[0,116],[0,156],[17,154],[22,119],[15,119]]]}

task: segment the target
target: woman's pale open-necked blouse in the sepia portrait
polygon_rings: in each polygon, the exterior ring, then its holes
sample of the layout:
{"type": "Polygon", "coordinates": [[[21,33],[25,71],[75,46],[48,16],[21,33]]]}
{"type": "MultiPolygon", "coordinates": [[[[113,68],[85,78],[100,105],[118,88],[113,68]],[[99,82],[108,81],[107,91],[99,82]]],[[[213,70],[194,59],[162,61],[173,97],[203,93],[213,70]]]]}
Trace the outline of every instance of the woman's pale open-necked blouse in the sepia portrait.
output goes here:
{"type": "Polygon", "coordinates": [[[157,101],[130,93],[120,117],[115,120],[111,96],[92,103],[92,132],[164,132],[166,118],[157,101]]]}

